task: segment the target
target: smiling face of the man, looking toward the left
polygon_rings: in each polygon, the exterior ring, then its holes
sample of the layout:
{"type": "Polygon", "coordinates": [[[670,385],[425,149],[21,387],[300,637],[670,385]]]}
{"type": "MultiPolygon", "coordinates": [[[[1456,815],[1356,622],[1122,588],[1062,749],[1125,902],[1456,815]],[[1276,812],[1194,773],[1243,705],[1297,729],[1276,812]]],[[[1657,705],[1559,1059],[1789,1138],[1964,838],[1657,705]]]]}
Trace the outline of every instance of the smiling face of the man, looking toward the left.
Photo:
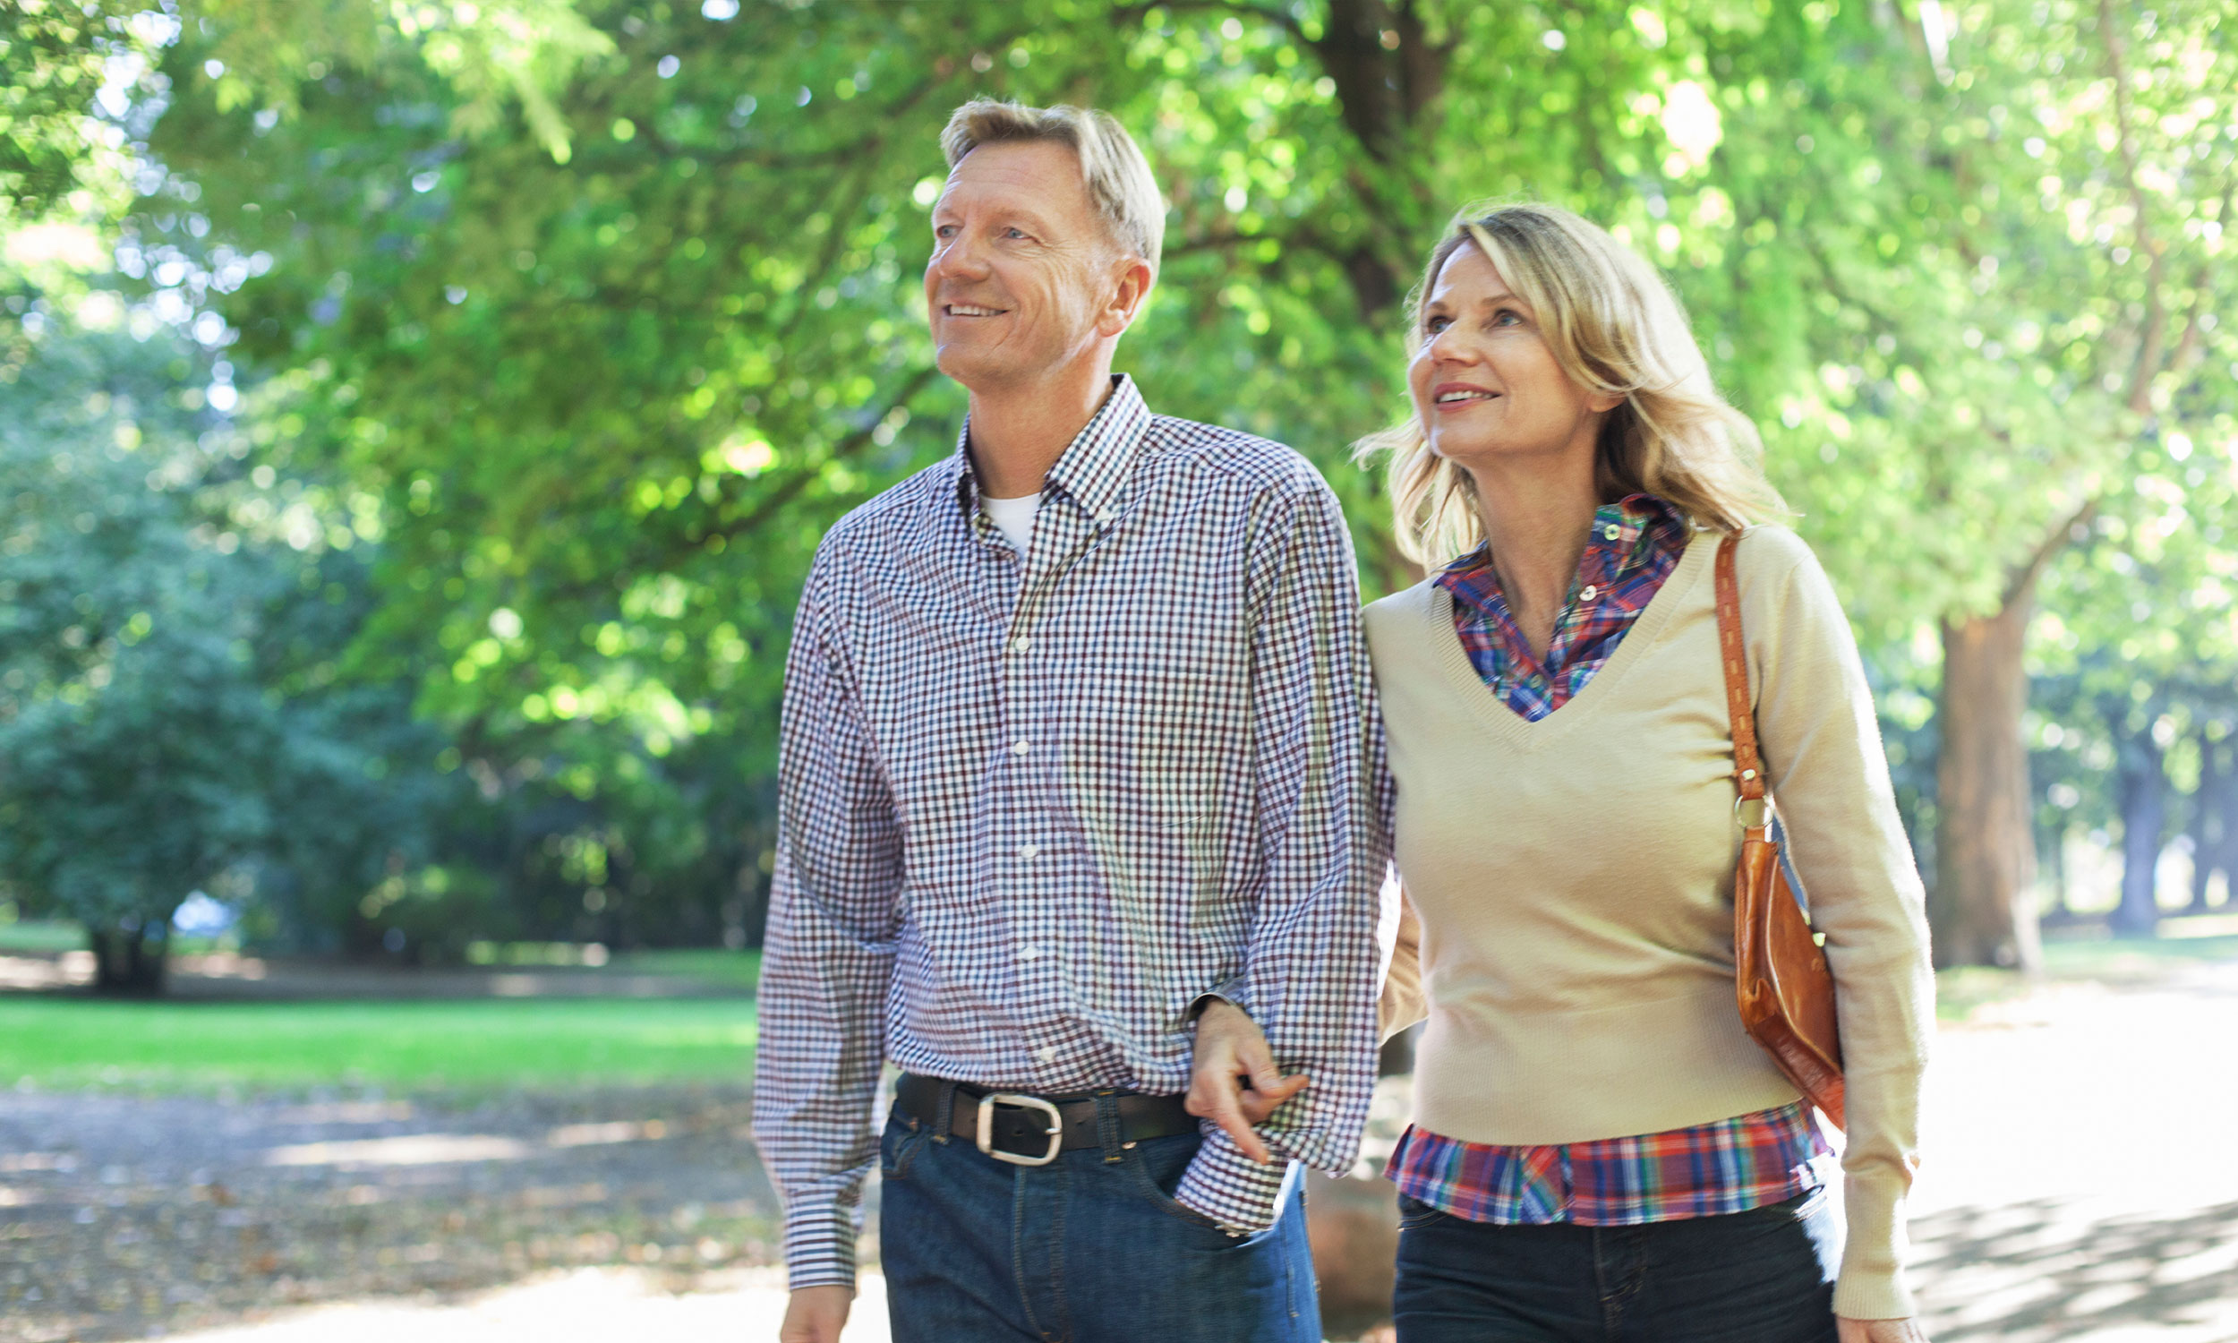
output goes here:
{"type": "Polygon", "coordinates": [[[1047,381],[1123,329],[1121,271],[1068,145],[971,150],[933,204],[924,264],[940,372],[974,392],[1047,381]]]}

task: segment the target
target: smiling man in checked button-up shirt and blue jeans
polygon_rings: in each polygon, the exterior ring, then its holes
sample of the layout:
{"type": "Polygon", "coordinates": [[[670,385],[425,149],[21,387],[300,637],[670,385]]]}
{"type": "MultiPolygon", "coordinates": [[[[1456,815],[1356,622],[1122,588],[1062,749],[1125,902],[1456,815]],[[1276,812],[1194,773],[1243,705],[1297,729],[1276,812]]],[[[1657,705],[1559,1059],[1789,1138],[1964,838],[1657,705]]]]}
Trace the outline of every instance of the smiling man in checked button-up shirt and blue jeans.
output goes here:
{"type": "Polygon", "coordinates": [[[900,1343],[1318,1341],[1289,1171],[1365,1121],[1385,864],[1343,517],[1112,376],[1164,204],[1110,116],[982,98],[942,148],[924,298],[969,419],[824,537],[786,667],[781,1339],[839,1336],[877,1148],[900,1343]]]}

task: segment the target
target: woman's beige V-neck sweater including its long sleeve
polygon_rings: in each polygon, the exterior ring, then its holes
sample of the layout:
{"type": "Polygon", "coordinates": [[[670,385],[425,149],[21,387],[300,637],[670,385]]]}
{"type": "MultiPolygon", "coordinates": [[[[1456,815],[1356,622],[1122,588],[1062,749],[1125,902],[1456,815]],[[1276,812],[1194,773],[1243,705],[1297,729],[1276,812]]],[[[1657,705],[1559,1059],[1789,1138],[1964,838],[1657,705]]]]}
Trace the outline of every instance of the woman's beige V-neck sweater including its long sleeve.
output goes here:
{"type": "MultiPolygon", "coordinates": [[[[1428,1016],[1414,1121],[1432,1133],[1569,1144],[1797,1099],[1734,1007],[1741,835],[1717,542],[1694,535],[1609,663],[1538,723],[1484,687],[1435,582],[1367,607],[1410,907],[1385,1023],[1428,1016]]],[[[1934,1003],[1920,877],[1817,560],[1761,526],[1737,562],[1764,766],[1842,1014],[1849,1249],[1835,1309],[1907,1316],[1898,1213],[1934,1003]]]]}

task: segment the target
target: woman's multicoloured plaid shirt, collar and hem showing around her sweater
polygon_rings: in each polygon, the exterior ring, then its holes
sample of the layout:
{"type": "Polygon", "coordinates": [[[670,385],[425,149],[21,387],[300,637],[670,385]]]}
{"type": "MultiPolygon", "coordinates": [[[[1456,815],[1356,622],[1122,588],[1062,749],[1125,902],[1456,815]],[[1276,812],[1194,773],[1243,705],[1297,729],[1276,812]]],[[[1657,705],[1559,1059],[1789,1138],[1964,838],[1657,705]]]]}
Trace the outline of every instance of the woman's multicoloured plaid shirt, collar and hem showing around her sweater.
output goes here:
{"type": "MultiPolygon", "coordinates": [[[[1685,517],[1654,495],[1602,504],[1544,658],[1524,642],[1486,546],[1455,560],[1437,582],[1455,595],[1452,627],[1477,676],[1504,705],[1538,721],[1616,654],[1678,566],[1687,535],[1685,517]]],[[[1826,1139],[1797,1101],[1567,1146],[1488,1146],[1408,1128],[1383,1173],[1401,1193],[1470,1222],[1632,1227],[1795,1198],[1822,1184],[1815,1162],[1824,1155],[1826,1139]]]]}

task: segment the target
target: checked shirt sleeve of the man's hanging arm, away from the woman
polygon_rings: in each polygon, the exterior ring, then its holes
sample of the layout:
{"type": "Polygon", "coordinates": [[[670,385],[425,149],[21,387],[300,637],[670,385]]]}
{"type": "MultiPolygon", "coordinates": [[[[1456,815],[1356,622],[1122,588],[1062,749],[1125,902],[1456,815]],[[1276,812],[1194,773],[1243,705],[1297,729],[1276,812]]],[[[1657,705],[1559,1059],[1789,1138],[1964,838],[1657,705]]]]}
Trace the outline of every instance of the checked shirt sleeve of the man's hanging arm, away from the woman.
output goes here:
{"type": "Polygon", "coordinates": [[[810,573],[786,660],[754,1054],[754,1142],[783,1198],[792,1287],[855,1283],[902,893],[893,797],[817,586],[810,573]]]}

